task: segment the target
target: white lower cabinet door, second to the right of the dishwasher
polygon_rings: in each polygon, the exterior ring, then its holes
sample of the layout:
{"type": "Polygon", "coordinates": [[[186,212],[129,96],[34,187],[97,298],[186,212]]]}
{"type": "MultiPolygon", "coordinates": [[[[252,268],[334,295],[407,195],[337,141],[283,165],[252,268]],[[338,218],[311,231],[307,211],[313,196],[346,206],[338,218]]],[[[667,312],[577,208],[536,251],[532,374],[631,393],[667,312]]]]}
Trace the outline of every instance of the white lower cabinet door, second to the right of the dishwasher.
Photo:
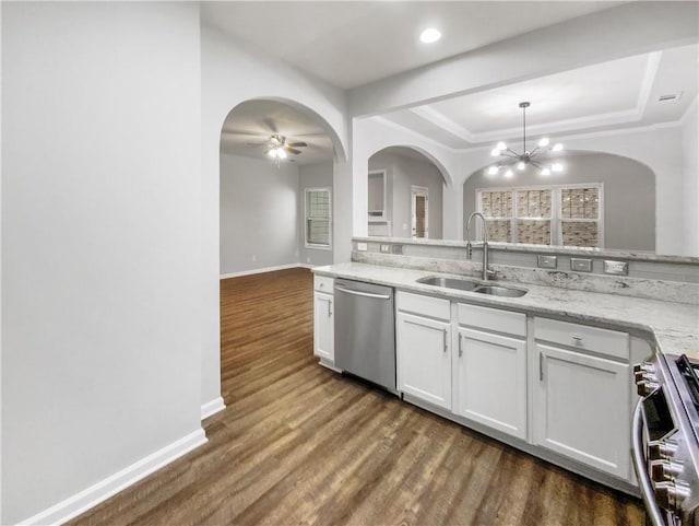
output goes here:
{"type": "Polygon", "coordinates": [[[457,356],[454,412],[526,440],[526,341],[459,329],[457,356]]]}

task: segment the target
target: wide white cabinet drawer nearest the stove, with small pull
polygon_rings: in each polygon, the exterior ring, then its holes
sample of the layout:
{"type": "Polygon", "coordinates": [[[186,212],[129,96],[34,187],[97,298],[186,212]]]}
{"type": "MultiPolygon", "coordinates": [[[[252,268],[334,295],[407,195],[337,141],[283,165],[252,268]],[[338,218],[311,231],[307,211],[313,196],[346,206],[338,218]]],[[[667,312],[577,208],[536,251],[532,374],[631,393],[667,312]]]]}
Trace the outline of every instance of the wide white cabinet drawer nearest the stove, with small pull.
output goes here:
{"type": "Polygon", "coordinates": [[[600,329],[556,319],[536,318],[534,322],[534,337],[537,340],[594,351],[623,360],[629,359],[629,335],[618,330],[600,329]]]}

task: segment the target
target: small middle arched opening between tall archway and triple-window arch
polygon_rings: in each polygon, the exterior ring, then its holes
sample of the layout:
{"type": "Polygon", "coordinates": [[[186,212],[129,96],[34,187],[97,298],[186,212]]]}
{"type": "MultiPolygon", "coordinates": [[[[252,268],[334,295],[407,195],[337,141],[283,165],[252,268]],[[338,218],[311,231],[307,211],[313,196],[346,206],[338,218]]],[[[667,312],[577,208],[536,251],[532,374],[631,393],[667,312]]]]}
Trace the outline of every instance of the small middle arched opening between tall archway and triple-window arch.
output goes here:
{"type": "Polygon", "coordinates": [[[441,239],[445,167],[418,148],[393,145],[368,160],[370,236],[441,239]]]}

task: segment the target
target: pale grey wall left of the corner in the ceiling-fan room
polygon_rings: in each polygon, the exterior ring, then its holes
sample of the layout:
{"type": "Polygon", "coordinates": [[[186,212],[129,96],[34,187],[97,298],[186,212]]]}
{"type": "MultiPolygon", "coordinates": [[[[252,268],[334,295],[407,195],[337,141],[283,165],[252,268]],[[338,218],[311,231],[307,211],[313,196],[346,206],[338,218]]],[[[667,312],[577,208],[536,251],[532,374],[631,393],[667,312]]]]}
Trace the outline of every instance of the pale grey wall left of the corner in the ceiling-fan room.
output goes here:
{"type": "Polygon", "coordinates": [[[221,273],[298,262],[298,167],[221,155],[221,273]]]}

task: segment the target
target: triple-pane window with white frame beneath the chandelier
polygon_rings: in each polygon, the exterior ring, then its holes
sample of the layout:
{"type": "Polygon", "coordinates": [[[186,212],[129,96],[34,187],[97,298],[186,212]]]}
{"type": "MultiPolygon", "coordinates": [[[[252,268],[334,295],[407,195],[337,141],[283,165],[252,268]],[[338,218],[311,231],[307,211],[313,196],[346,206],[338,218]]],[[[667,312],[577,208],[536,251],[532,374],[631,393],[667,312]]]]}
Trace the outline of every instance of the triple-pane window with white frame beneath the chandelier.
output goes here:
{"type": "Polygon", "coordinates": [[[476,208],[489,241],[602,248],[602,194],[601,183],[478,189],[476,208]]]}

